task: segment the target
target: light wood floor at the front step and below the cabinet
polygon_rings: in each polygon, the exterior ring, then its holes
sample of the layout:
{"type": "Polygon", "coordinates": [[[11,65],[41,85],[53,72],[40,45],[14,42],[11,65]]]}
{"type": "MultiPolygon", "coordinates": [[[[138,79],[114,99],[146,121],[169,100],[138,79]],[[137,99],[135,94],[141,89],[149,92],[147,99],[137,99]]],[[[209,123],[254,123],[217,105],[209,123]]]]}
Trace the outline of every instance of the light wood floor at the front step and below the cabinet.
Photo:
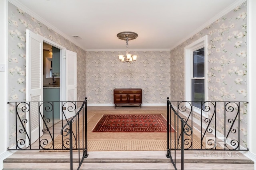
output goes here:
{"type": "MultiPolygon", "coordinates": [[[[88,106],[89,110],[140,110],[140,107],[88,106]]],[[[165,110],[166,106],[142,106],[144,110],[165,110]]],[[[59,128],[60,129],[60,128],[59,128]]],[[[100,169],[148,169],[172,170],[166,151],[94,151],[88,152],[81,170],[100,169]]],[[[73,158],[78,158],[77,154],[73,158]]],[[[177,153],[177,168],[180,169],[180,154],[177,153]]],[[[4,160],[4,170],[18,169],[69,169],[69,152],[39,152],[19,150],[4,160]]],[[[74,163],[74,168],[77,163],[74,163]]],[[[185,150],[185,170],[254,170],[254,162],[242,152],[185,150]]]]}

